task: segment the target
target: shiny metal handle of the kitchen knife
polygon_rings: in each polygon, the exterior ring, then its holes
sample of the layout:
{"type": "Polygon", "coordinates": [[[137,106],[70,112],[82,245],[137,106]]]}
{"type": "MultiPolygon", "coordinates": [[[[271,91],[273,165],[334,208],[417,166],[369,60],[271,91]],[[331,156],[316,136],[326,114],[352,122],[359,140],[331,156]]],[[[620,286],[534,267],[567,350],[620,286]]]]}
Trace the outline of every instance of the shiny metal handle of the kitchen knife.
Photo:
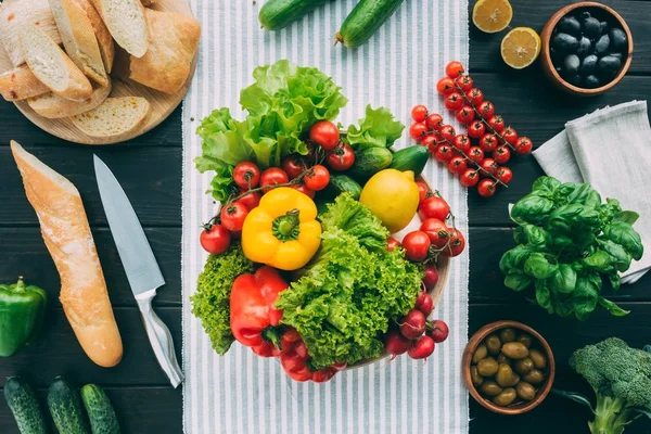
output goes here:
{"type": "Polygon", "coordinates": [[[161,368],[169,378],[169,382],[176,388],[183,381],[183,372],[176,358],[171,333],[169,333],[167,326],[165,326],[152,308],[152,299],[155,295],[156,292],[151,291],[150,296],[136,298],[136,301],[138,302],[138,307],[142,314],[144,329],[146,330],[146,335],[154,349],[158,365],[161,365],[161,368]]]}

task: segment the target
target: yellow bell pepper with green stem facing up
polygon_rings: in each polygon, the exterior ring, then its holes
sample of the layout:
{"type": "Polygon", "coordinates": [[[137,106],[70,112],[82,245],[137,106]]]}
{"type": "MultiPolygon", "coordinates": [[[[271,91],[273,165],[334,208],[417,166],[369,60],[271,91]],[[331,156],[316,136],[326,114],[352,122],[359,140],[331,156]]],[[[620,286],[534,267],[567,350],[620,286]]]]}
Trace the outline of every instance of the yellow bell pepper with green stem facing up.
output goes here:
{"type": "Polygon", "coordinates": [[[242,250],[254,263],[291,271],[305,266],[321,244],[317,205],[289,187],[271,190],[242,228],[242,250]]]}

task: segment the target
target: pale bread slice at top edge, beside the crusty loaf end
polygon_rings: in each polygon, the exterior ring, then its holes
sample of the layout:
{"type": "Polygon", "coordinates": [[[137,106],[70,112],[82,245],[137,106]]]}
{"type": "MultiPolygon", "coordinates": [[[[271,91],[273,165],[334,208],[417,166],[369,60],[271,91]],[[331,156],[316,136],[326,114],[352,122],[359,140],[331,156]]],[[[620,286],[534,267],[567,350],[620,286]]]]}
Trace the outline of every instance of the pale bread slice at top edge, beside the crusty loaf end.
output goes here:
{"type": "Polygon", "coordinates": [[[150,34],[140,0],[92,0],[118,46],[136,58],[149,48],[150,34]]]}

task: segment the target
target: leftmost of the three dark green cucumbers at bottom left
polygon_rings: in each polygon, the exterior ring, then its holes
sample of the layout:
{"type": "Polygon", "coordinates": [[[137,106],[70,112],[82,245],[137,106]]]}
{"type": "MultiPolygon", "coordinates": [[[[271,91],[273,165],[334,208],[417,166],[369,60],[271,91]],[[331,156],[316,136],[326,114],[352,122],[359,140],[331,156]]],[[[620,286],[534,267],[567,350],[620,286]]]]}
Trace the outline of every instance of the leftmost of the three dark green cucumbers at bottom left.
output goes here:
{"type": "Polygon", "coordinates": [[[29,383],[20,376],[10,376],[4,383],[4,399],[16,420],[21,434],[44,434],[46,420],[29,383]]]}

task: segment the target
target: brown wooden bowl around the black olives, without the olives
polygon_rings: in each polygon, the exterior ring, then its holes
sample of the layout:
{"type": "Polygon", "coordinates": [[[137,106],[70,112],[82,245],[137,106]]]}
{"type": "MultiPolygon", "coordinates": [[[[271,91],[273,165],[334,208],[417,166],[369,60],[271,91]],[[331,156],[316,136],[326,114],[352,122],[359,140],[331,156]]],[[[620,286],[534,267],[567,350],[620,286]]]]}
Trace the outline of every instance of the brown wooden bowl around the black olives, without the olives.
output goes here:
{"type": "Polygon", "coordinates": [[[607,90],[610,90],[611,88],[613,88],[615,85],[617,85],[622,80],[622,78],[624,78],[624,76],[628,72],[628,68],[630,67],[630,62],[633,61],[633,35],[630,34],[630,28],[628,28],[628,25],[626,24],[624,18],[622,18],[622,16],[617,12],[615,12],[612,8],[609,8],[605,4],[597,3],[595,1],[579,1],[577,3],[570,4],[570,5],[566,5],[562,9],[560,9],[557,13],[554,13],[551,16],[551,18],[549,18],[549,21],[545,25],[545,28],[542,28],[542,33],[540,34],[540,40],[542,42],[542,47],[541,47],[542,71],[545,72],[545,75],[547,76],[547,78],[549,78],[549,80],[557,88],[559,88],[565,92],[580,95],[580,97],[597,95],[597,94],[603,93],[607,90]],[[565,81],[565,79],[563,79],[563,77],[561,77],[560,74],[556,71],[556,67],[554,67],[553,63],[551,62],[550,40],[551,40],[551,35],[553,33],[553,29],[556,28],[557,24],[559,24],[559,21],[561,21],[561,18],[563,16],[567,15],[572,11],[575,11],[577,9],[583,9],[583,8],[599,9],[599,10],[603,11],[603,13],[612,16],[613,20],[617,21],[617,23],[620,24],[620,26],[626,34],[626,37],[628,38],[628,55],[626,56],[626,59],[624,61],[624,65],[620,69],[620,73],[617,74],[617,76],[615,78],[613,78],[608,84],[605,84],[599,88],[595,88],[595,89],[579,88],[577,86],[571,85],[570,82],[565,81]]]}

